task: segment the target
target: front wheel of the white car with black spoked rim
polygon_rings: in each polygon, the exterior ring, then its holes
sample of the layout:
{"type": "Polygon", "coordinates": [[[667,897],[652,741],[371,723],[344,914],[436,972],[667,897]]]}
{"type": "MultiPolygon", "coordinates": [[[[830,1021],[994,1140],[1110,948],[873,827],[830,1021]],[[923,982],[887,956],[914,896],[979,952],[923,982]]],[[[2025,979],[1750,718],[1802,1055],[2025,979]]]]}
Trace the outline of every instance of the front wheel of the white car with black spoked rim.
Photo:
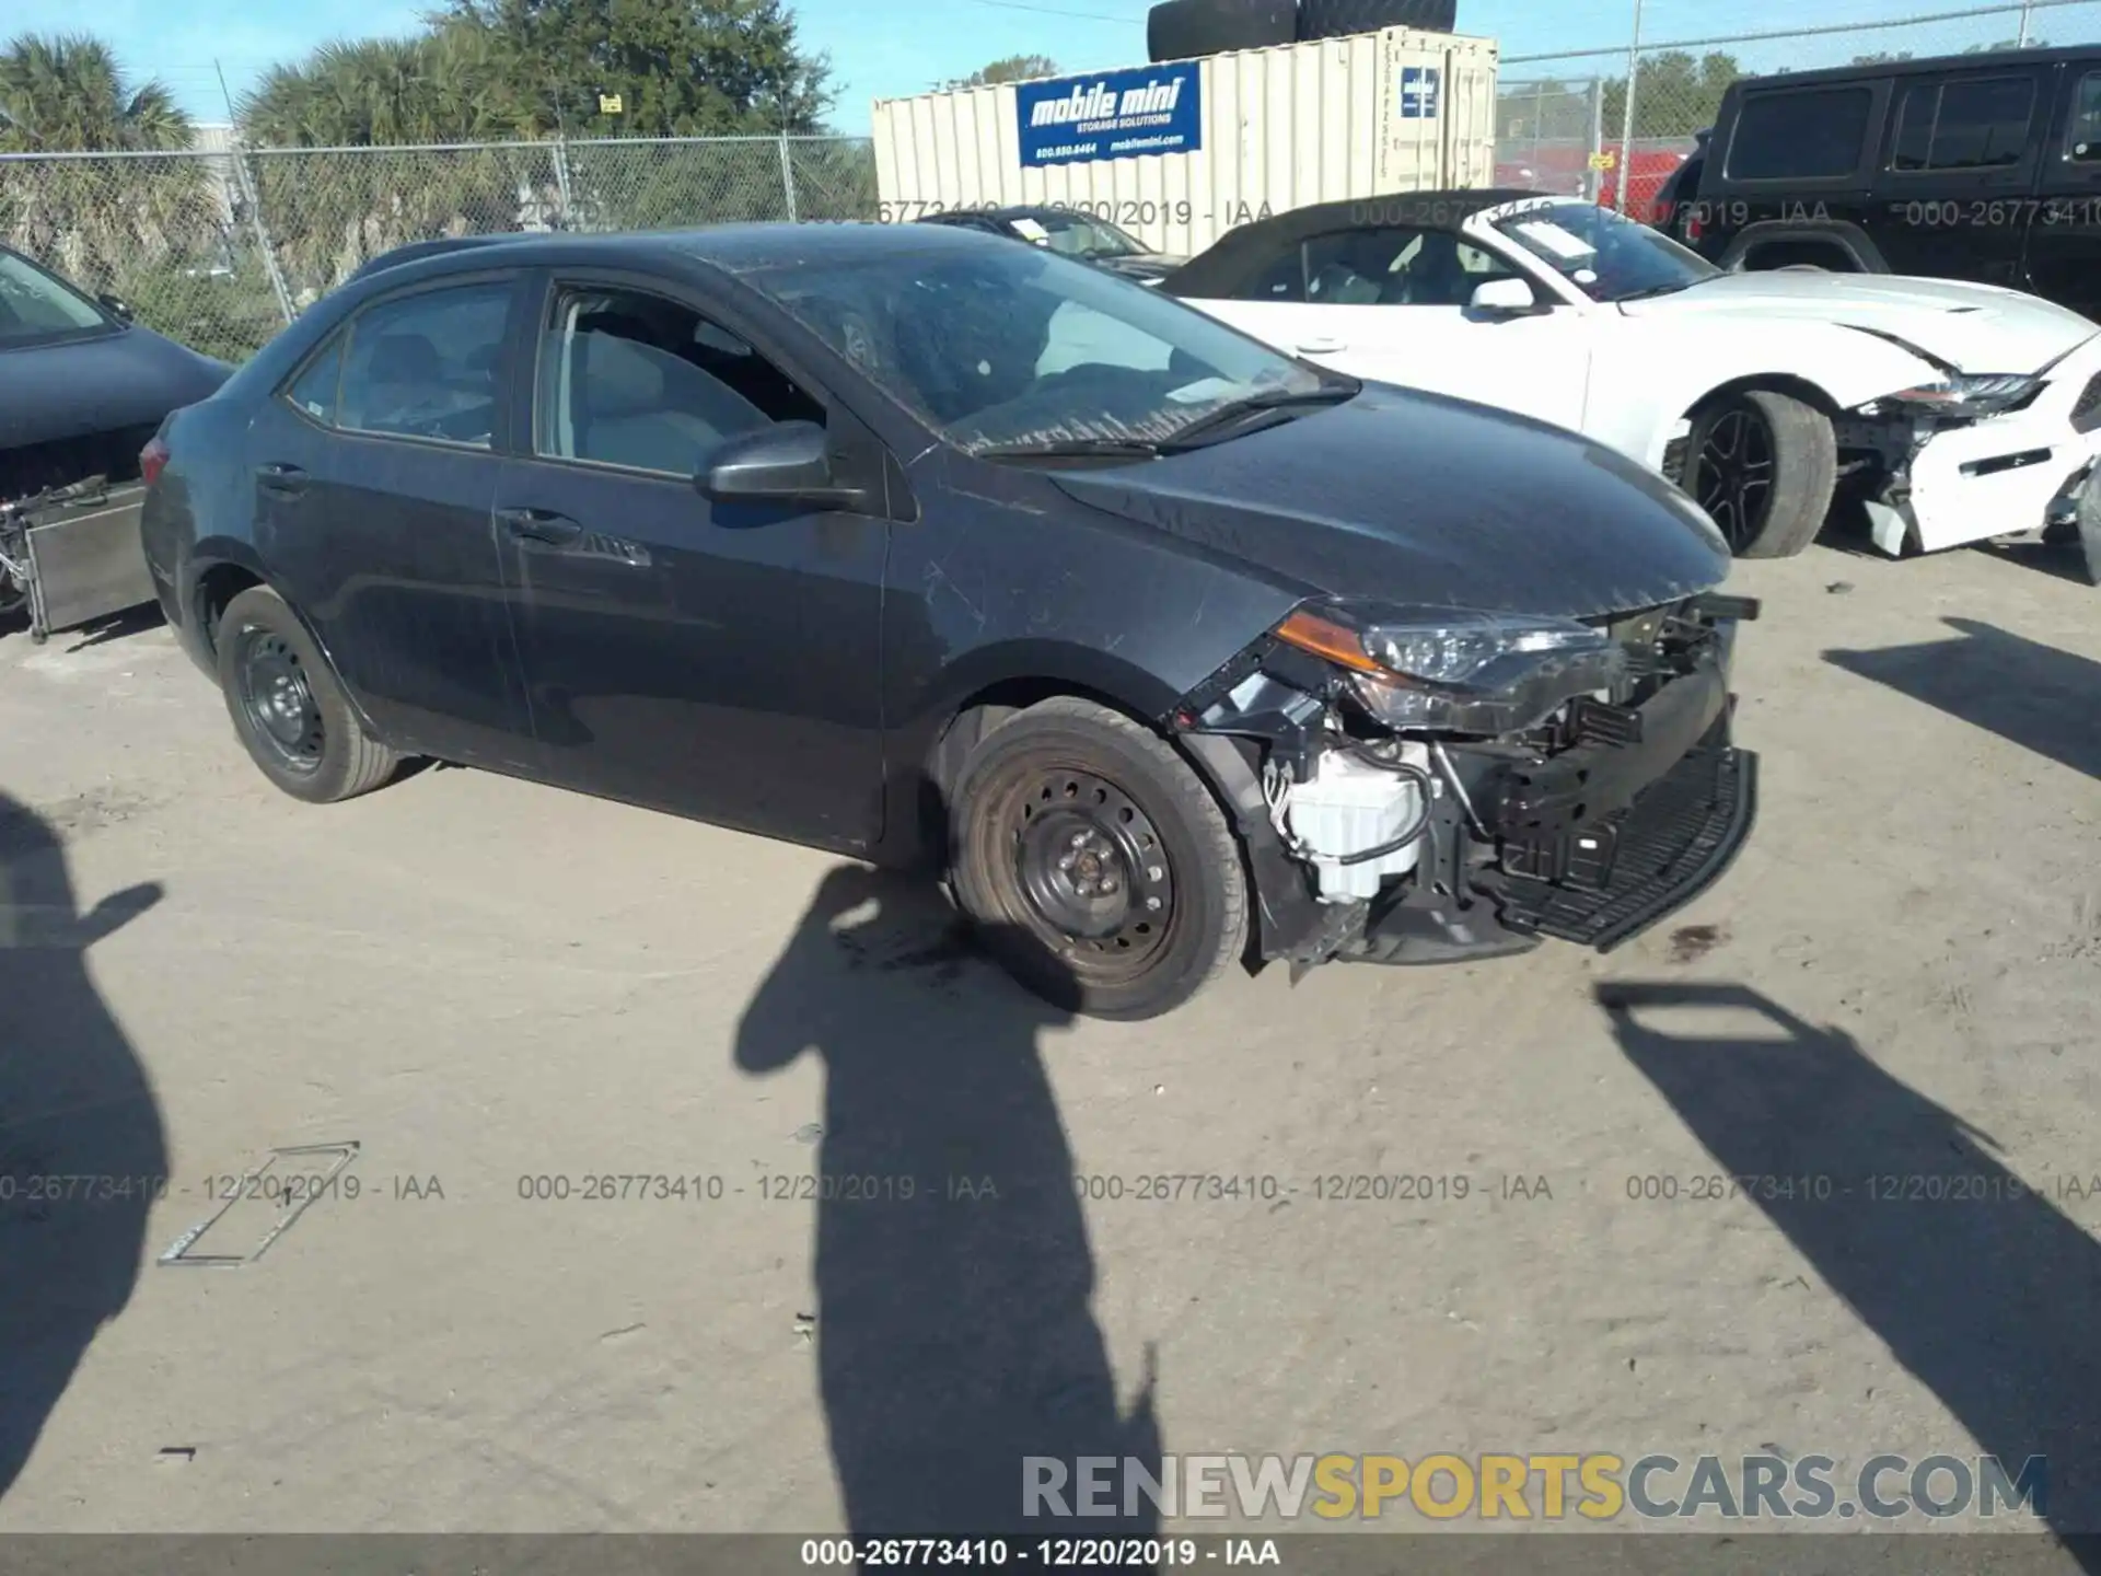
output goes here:
{"type": "Polygon", "coordinates": [[[1691,414],[1685,492],[1740,559],[1790,559],[1817,540],[1838,485],[1838,439],[1815,406],[1771,389],[1691,414]]]}

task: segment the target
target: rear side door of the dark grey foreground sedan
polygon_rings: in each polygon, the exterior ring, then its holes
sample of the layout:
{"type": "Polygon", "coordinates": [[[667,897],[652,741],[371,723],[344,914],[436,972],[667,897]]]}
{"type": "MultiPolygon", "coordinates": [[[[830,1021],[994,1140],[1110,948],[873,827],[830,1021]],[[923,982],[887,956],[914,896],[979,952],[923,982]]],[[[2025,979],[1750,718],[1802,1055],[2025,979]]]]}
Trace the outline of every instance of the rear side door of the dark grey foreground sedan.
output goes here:
{"type": "Polygon", "coordinates": [[[529,769],[490,509],[523,275],[363,307],[250,427],[256,546],[397,748],[529,769]]]}

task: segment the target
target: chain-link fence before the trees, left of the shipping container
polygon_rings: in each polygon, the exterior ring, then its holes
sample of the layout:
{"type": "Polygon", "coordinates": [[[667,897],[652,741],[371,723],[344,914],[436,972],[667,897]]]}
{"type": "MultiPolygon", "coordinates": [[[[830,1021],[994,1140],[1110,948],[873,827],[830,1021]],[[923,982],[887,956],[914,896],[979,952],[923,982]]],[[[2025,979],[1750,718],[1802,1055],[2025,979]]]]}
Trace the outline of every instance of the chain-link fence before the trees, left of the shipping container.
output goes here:
{"type": "Polygon", "coordinates": [[[0,155],[0,242],[227,361],[408,242],[874,216],[853,137],[0,155]]]}

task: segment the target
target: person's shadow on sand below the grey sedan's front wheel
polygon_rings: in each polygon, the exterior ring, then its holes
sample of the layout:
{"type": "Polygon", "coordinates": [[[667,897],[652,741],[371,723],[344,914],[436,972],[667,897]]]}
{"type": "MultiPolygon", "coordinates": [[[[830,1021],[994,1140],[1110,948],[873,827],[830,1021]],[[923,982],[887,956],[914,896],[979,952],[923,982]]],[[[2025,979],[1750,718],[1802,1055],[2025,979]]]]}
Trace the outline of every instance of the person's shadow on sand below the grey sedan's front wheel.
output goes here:
{"type": "Polygon", "coordinates": [[[1124,1515],[1122,1484],[1124,1460],[1160,1475],[1151,1372],[1126,1416],[1036,1042],[1067,1015],[973,954],[931,883],[843,866],[737,1025],[744,1072],[824,1057],[813,1339],[847,1521],[1147,1536],[1156,1511],[1141,1494],[1124,1515]],[[1025,1505],[1029,1456],[1063,1465],[1074,1509],[1076,1458],[1118,1458],[1118,1515],[1025,1505]]]}

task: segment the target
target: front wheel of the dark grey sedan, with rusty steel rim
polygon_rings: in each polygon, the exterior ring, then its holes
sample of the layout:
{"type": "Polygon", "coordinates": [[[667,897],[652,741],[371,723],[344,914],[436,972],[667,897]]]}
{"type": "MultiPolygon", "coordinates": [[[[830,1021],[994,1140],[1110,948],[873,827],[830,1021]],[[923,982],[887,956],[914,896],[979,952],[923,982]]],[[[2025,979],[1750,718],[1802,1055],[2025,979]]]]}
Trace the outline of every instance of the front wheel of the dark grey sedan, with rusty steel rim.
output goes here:
{"type": "Polygon", "coordinates": [[[1219,801],[1158,733],[1072,696],[971,750],[950,796],[950,883],[1015,979],[1088,1017],[1181,1007],[1248,935],[1219,801]]]}

